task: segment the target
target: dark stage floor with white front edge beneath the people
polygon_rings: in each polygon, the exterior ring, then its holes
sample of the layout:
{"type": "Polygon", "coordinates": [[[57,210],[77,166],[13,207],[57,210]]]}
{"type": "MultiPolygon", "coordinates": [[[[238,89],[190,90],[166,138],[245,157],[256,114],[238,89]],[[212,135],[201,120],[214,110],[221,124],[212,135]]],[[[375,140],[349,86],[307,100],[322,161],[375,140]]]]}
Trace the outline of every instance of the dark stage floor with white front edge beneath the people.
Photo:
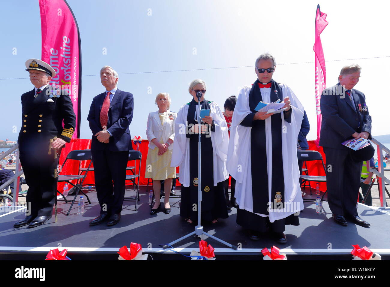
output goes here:
{"type": "MultiPolygon", "coordinates": [[[[306,191],[308,193],[308,191],[306,191]]],[[[132,196],[133,191],[126,191],[126,196],[132,196]]],[[[180,194],[180,191],[177,191],[180,194]]],[[[89,221],[99,214],[96,192],[89,192],[91,205],[85,205],[85,212],[77,214],[77,205],[66,216],[69,203],[58,204],[58,222],[54,216],[44,225],[36,228],[13,228],[13,224],[25,217],[25,207],[12,212],[0,213],[0,259],[38,259],[42,260],[50,249],[66,248],[72,259],[108,259],[116,260],[119,248],[130,242],[142,244],[143,252],[156,259],[188,258],[174,253],[172,250],[162,250],[160,244],[168,243],[194,231],[194,225],[188,225],[179,216],[179,198],[171,198],[171,213],[159,212],[154,216],[149,214],[146,188],[140,188],[140,205],[134,211],[134,201],[125,201],[121,221],[114,226],[105,223],[89,226],[89,221]]],[[[313,195],[315,196],[315,195],[313,195]]],[[[306,196],[305,196],[306,197],[306,196]]],[[[69,196],[71,198],[71,196],[69,196]]],[[[161,200],[163,202],[163,200],[161,200]]],[[[324,214],[317,214],[315,205],[304,203],[305,209],[300,213],[300,226],[287,225],[285,234],[287,244],[274,242],[269,234],[260,241],[252,241],[246,231],[236,224],[236,209],[229,210],[229,218],[220,219],[217,224],[203,223],[204,230],[231,244],[238,245],[239,250],[232,250],[202,235],[215,248],[217,259],[259,260],[261,249],[275,245],[287,254],[289,260],[351,260],[352,246],[367,246],[373,252],[379,253],[383,259],[390,259],[390,208],[381,209],[358,204],[359,215],[369,223],[371,228],[349,223],[348,226],[337,225],[331,218],[326,201],[323,202],[324,214]]],[[[191,237],[175,244],[175,250],[189,254],[199,250],[197,238],[191,237]]]]}

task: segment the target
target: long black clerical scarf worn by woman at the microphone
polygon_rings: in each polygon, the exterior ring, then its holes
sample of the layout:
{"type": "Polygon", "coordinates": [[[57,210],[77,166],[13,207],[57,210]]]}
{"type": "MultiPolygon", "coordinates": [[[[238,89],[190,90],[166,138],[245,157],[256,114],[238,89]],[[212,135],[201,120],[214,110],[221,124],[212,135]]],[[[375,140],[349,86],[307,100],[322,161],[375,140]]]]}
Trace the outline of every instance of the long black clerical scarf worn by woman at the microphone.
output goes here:
{"type": "MultiPolygon", "coordinates": [[[[203,100],[200,102],[201,109],[210,109],[210,102],[203,100]]],[[[187,122],[190,124],[197,124],[195,121],[196,110],[198,109],[198,103],[194,99],[189,103],[187,122]]],[[[204,123],[203,123],[204,124],[204,123]]],[[[214,206],[214,162],[213,162],[213,143],[211,142],[210,132],[211,128],[208,128],[208,134],[201,134],[202,154],[201,154],[201,190],[202,190],[202,212],[211,211],[214,206]]],[[[198,134],[190,135],[190,202],[191,205],[197,204],[198,196],[198,134]]],[[[192,212],[191,218],[196,218],[196,210],[192,212]]]]}

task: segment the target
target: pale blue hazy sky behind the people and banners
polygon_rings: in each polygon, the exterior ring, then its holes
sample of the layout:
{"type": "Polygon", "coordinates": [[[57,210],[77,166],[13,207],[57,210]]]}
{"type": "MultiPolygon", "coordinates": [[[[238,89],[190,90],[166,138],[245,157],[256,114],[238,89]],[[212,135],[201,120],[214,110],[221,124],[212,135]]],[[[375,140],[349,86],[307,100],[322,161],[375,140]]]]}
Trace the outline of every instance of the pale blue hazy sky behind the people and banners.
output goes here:
{"type": "MultiPolygon", "coordinates": [[[[206,98],[222,107],[228,96],[238,94],[239,87],[255,81],[254,61],[268,51],[277,60],[274,79],[288,84],[301,100],[311,124],[308,139],[316,139],[312,46],[317,2],[67,2],[78,21],[82,41],[82,138],[91,137],[87,114],[92,98],[105,91],[98,76],[104,65],[119,73],[119,89],[133,93],[135,112],[130,132],[132,137],[146,139],[148,113],[157,110],[156,94],[170,93],[171,110],[177,112],[191,100],[188,84],[202,78],[207,84],[206,98]],[[250,67],[174,71],[238,66],[250,67]],[[143,73],[156,71],[174,72],[143,73]]],[[[390,4],[333,0],[319,4],[329,22],[321,34],[327,86],[337,83],[342,66],[353,62],[362,66],[362,77],[355,88],[366,95],[372,134],[390,134],[385,88],[390,57],[383,57],[390,56],[390,4]],[[334,61],[369,57],[383,58],[334,61]]],[[[21,125],[20,96],[32,89],[24,63],[29,58],[41,58],[39,4],[37,0],[7,1],[2,3],[2,11],[0,139],[16,140],[21,125]],[[3,80],[8,78],[19,79],[3,80]]]]}

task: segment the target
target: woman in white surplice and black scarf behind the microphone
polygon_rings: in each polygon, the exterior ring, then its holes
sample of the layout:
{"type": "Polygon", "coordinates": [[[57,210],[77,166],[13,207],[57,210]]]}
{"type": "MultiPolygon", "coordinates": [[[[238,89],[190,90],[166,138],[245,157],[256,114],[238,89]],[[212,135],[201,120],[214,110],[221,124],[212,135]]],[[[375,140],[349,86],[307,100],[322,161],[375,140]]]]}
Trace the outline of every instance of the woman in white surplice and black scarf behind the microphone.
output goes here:
{"type": "Polygon", "coordinates": [[[171,166],[180,166],[181,205],[180,216],[187,223],[197,223],[198,204],[198,127],[196,121],[198,99],[202,93],[202,109],[210,109],[210,116],[202,118],[201,130],[201,218],[217,223],[218,218],[227,218],[223,182],[228,178],[226,170],[229,137],[222,111],[214,102],[204,99],[206,83],[193,80],[188,89],[193,96],[177,113],[175,141],[171,166]]]}

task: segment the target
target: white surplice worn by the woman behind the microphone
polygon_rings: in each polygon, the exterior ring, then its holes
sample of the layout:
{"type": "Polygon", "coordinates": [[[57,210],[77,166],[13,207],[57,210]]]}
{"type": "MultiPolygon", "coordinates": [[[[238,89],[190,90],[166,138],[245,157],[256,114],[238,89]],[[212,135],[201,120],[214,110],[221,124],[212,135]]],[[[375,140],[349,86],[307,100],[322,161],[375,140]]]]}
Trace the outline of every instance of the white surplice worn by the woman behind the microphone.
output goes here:
{"type": "MultiPolygon", "coordinates": [[[[218,182],[223,182],[229,177],[226,170],[229,134],[221,109],[215,102],[211,102],[209,105],[211,109],[210,116],[213,118],[215,125],[215,132],[210,131],[210,136],[213,144],[213,176],[214,186],[216,186],[218,182]]],[[[190,186],[190,139],[186,137],[185,128],[189,107],[190,105],[187,104],[182,105],[177,113],[171,161],[171,166],[180,166],[180,183],[186,187],[190,186]]],[[[207,163],[202,162],[202,167],[207,168],[207,163]]]]}

